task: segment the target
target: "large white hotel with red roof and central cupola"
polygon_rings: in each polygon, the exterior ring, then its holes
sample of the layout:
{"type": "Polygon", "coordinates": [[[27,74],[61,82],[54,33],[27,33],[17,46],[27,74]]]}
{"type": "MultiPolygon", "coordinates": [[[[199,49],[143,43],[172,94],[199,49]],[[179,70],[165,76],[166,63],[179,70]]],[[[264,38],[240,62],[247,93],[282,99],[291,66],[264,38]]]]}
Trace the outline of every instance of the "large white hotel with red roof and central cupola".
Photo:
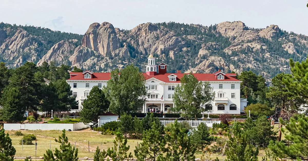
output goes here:
{"type": "MultiPolygon", "coordinates": [[[[168,113],[168,109],[174,106],[173,96],[174,88],[180,83],[180,79],[184,73],[167,73],[167,64],[160,63],[156,65],[156,58],[151,54],[148,57],[148,65],[146,65],[145,86],[148,86],[150,95],[147,102],[143,105],[142,111],[150,112],[153,108],[154,112],[160,110],[168,113]]],[[[244,113],[244,107],[247,105],[247,99],[240,97],[241,81],[236,79],[235,74],[225,74],[220,70],[214,74],[193,74],[199,81],[208,81],[215,92],[214,101],[209,103],[206,108],[210,110],[210,114],[235,114],[244,113]]],[[[92,73],[85,71],[83,73],[70,73],[71,78],[67,80],[70,84],[73,95],[79,101],[79,105],[72,111],[80,111],[82,102],[87,98],[91,88],[98,86],[102,88],[107,85],[110,79],[110,73],[92,73]]]]}

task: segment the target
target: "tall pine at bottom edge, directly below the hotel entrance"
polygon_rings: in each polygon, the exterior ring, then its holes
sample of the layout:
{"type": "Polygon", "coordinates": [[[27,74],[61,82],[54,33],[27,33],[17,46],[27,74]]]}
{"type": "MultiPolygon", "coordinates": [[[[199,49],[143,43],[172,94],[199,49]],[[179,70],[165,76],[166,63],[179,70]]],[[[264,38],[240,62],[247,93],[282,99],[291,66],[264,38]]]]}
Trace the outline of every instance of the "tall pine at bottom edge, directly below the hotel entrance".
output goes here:
{"type": "Polygon", "coordinates": [[[164,160],[163,152],[165,151],[166,140],[158,129],[159,126],[153,122],[152,128],[144,131],[142,142],[134,150],[137,161],[164,160]]]}

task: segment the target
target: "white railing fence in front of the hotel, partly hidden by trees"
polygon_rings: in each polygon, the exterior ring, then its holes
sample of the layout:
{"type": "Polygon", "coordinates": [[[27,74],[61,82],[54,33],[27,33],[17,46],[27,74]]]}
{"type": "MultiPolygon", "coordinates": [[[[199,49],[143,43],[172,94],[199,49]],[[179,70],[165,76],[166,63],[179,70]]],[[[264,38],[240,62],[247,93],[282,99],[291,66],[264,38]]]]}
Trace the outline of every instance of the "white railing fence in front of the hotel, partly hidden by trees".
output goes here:
{"type": "MultiPolygon", "coordinates": [[[[111,122],[114,120],[100,120],[100,125],[104,125],[107,122],[111,122]]],[[[116,120],[119,121],[119,120],[116,120]]],[[[174,123],[175,120],[160,120],[160,122],[166,126],[167,124],[174,123]]],[[[220,121],[201,121],[201,120],[188,120],[188,121],[177,121],[177,122],[187,122],[191,127],[198,127],[201,123],[206,124],[207,127],[213,127],[213,123],[220,124],[220,121]]]]}

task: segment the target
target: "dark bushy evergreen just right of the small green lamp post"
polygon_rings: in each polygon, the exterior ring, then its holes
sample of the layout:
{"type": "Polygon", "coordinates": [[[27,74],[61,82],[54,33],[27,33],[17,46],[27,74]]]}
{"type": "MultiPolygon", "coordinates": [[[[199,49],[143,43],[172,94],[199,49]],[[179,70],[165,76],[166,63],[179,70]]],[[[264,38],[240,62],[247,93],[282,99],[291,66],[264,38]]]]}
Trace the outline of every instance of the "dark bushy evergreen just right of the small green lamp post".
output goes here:
{"type": "Polygon", "coordinates": [[[206,124],[201,123],[197,129],[193,130],[192,143],[198,146],[197,148],[203,149],[207,145],[212,144],[213,136],[210,136],[209,129],[206,124]]]}

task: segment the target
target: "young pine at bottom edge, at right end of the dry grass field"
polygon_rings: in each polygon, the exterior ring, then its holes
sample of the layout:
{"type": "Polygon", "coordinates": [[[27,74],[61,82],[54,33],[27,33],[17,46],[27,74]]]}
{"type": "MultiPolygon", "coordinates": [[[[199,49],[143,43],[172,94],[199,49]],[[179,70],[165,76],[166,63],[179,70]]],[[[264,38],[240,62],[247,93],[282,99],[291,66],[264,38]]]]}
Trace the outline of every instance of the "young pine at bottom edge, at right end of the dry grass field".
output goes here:
{"type": "Polygon", "coordinates": [[[116,133],[115,140],[113,141],[114,147],[108,148],[107,155],[111,157],[112,161],[124,161],[132,158],[132,153],[127,155],[129,150],[129,145],[127,144],[127,139],[123,141],[123,135],[120,132],[116,133]]]}

